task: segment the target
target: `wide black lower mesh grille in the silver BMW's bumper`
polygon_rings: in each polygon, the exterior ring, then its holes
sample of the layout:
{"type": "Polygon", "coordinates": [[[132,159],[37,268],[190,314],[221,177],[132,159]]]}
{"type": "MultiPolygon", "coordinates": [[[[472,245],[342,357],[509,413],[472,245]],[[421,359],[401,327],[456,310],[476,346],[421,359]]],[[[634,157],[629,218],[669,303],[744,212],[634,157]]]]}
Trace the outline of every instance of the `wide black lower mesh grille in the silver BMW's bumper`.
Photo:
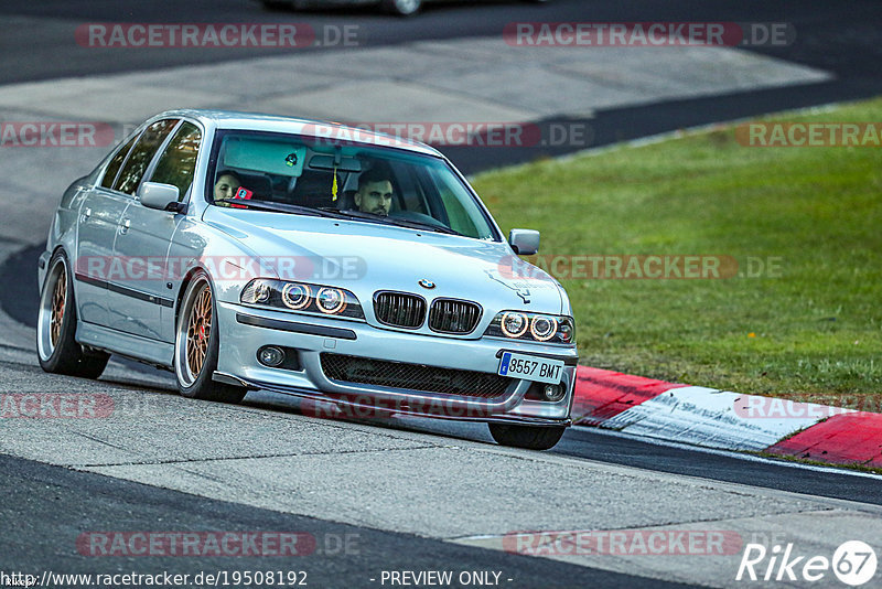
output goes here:
{"type": "Polygon", "coordinates": [[[342,354],[321,354],[322,371],[331,381],[386,386],[492,399],[505,395],[514,381],[473,371],[454,371],[422,364],[388,362],[342,354]]]}

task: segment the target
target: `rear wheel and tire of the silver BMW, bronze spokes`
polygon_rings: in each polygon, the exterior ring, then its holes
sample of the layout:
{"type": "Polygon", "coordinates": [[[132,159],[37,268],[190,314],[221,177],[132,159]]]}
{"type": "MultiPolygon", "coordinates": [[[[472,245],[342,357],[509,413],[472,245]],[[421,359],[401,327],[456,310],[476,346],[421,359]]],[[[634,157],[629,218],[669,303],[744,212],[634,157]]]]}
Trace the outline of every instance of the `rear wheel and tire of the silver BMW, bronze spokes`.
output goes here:
{"type": "Polygon", "coordinates": [[[36,318],[36,355],[40,367],[52,374],[98,378],[110,354],[83,350],[76,342],[76,300],[74,277],[67,256],[52,256],[40,292],[36,318]],[[57,297],[63,297],[58,303],[57,297]],[[56,304],[57,303],[57,304],[56,304]]]}

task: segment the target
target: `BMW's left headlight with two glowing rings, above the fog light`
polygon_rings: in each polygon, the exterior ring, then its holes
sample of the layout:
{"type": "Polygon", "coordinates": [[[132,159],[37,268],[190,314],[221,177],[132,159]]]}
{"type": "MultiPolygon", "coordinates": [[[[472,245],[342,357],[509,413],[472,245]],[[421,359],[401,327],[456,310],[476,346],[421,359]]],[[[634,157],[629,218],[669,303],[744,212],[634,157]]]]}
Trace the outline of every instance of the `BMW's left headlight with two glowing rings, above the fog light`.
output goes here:
{"type": "Polygon", "coordinates": [[[305,282],[255,278],[248,282],[239,300],[245,304],[287,311],[364,319],[362,304],[348,290],[305,282]]]}

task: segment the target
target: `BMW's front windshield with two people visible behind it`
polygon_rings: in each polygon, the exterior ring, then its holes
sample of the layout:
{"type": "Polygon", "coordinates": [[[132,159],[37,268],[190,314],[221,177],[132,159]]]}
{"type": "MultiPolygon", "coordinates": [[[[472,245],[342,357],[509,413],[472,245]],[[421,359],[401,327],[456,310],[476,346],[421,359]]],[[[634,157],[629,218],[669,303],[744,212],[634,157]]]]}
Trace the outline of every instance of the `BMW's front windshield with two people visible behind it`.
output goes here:
{"type": "Polygon", "coordinates": [[[206,194],[217,206],[386,223],[498,240],[443,160],[304,136],[218,131],[206,194]]]}

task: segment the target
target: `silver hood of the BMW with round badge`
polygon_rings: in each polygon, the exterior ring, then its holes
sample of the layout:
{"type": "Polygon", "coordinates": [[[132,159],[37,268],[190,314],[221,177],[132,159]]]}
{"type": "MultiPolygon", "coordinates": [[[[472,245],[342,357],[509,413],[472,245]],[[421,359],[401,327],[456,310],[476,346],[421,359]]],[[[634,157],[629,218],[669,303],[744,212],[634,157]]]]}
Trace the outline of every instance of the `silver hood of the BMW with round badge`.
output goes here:
{"type": "Polygon", "coordinates": [[[257,253],[262,274],[338,286],[354,292],[363,306],[377,290],[395,290],[427,300],[474,300],[494,312],[560,313],[564,308],[557,281],[501,242],[217,206],[208,207],[203,221],[257,253]],[[421,280],[433,287],[420,286],[421,280]]]}

